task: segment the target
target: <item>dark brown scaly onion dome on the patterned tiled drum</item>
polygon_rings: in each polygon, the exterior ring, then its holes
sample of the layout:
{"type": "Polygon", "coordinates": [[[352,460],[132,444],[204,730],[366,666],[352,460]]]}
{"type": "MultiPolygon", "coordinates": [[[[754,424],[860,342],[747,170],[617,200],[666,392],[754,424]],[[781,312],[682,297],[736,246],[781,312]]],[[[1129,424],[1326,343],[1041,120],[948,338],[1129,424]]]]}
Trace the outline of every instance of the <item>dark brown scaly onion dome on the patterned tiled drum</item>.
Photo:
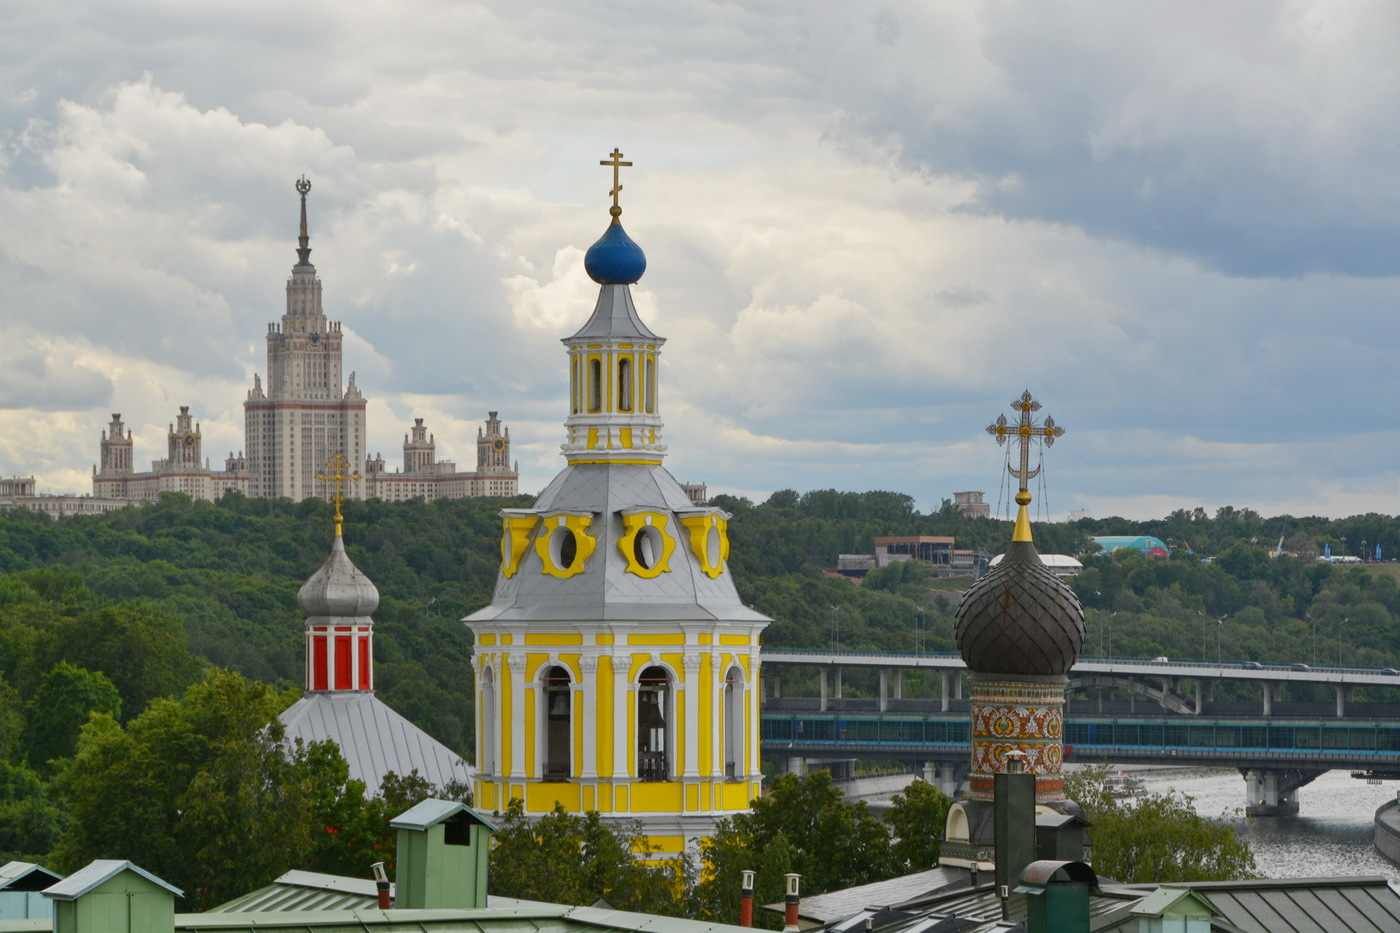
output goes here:
{"type": "Polygon", "coordinates": [[[955,637],[974,674],[1065,674],[1084,647],[1084,608],[1032,542],[1014,541],[963,594],[955,637]]]}

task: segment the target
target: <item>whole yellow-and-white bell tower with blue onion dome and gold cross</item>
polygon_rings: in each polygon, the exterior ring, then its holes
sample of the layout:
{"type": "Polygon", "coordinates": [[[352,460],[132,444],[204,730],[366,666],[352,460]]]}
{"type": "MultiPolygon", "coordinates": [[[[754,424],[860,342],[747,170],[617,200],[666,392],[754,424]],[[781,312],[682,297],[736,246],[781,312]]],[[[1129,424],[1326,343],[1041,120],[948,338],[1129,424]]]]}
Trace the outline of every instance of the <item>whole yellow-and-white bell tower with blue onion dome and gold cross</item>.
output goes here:
{"type": "Polygon", "coordinates": [[[759,633],[727,556],[729,516],[696,507],[661,461],[664,339],[630,287],[647,268],[612,223],[585,256],[599,283],[564,339],[567,465],[533,509],[503,514],[476,635],[476,806],[596,810],[640,821],[661,855],[711,835],[759,793],[759,633]]]}

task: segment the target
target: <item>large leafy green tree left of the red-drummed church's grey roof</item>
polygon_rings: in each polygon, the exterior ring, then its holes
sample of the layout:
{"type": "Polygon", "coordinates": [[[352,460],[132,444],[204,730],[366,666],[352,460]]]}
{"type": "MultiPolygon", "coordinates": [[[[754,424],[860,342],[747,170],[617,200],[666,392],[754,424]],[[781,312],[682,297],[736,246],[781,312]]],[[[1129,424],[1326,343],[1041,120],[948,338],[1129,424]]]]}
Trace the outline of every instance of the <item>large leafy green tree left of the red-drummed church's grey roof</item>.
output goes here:
{"type": "Polygon", "coordinates": [[[134,857],[203,908],[293,867],[363,873],[389,842],[329,742],[288,747],[280,698],[211,671],[123,728],[95,714],[55,778],[73,815],[52,862],[134,857]]]}

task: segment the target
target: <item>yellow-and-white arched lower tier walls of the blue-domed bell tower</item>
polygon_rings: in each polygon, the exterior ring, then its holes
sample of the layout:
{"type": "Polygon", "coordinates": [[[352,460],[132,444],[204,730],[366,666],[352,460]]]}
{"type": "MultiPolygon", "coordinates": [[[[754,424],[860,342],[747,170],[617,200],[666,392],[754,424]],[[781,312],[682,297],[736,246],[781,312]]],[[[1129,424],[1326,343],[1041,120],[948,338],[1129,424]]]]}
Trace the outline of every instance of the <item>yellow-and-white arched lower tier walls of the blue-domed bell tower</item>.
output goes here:
{"type": "MultiPolygon", "coordinates": [[[[524,650],[511,651],[498,644],[504,640],[500,633],[479,630],[477,664],[480,671],[491,671],[494,695],[479,702],[477,710],[483,717],[498,716],[498,747],[482,748],[477,755],[479,762],[497,765],[494,773],[482,769],[479,806],[504,810],[519,797],[533,814],[561,806],[570,813],[713,821],[748,810],[760,782],[759,691],[752,661],[756,636],[704,635],[710,644],[700,643],[699,632],[630,632],[619,639],[617,633],[532,626],[514,639],[524,650]],[[615,647],[619,640],[626,647],[615,647]],[[724,647],[715,644],[720,642],[724,647]],[[585,657],[592,663],[582,663],[585,657]],[[669,763],[664,775],[645,775],[638,768],[637,688],[643,672],[657,667],[673,675],[664,700],[669,763]],[[563,670],[570,678],[568,762],[567,775],[546,778],[545,758],[552,751],[542,678],[550,670],[563,670]]],[[[491,731],[479,723],[479,735],[491,731]]],[[[648,838],[662,853],[679,853],[685,843],[685,834],[648,838]]]]}

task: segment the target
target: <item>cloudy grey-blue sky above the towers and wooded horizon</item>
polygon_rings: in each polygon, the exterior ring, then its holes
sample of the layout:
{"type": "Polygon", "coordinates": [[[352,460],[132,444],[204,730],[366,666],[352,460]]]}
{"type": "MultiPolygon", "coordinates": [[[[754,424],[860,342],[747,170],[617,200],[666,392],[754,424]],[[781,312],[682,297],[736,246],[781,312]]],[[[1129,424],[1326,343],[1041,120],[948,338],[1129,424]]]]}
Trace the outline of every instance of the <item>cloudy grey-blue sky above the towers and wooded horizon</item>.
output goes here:
{"type": "Polygon", "coordinates": [[[0,474],[90,492],[179,405],[216,464],[295,262],[400,462],[521,488],[623,221],[678,479],[1050,516],[1400,513],[1400,6],[15,0],[0,7],[0,474]]]}

